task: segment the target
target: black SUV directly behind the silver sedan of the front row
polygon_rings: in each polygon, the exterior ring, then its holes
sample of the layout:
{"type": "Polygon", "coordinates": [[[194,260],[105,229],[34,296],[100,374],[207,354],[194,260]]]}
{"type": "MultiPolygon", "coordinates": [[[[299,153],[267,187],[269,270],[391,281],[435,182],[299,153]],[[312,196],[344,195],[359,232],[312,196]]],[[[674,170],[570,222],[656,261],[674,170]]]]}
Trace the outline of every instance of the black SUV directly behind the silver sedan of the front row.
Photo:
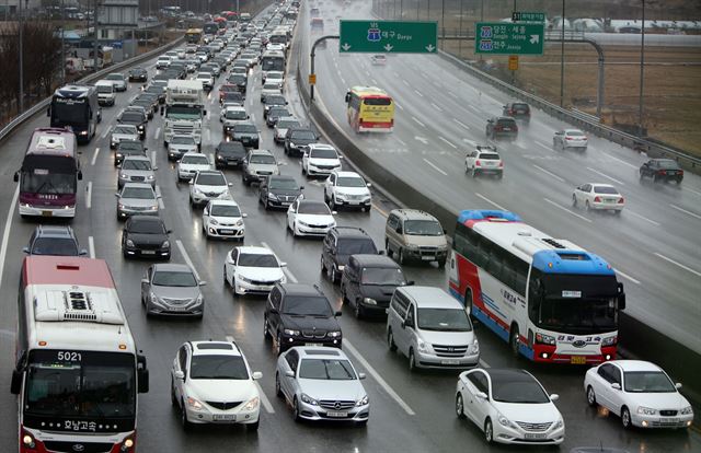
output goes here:
{"type": "Polygon", "coordinates": [[[279,355],[292,346],[318,344],[341,348],[341,326],[318,286],[277,283],[267,297],[263,332],[279,355]]]}

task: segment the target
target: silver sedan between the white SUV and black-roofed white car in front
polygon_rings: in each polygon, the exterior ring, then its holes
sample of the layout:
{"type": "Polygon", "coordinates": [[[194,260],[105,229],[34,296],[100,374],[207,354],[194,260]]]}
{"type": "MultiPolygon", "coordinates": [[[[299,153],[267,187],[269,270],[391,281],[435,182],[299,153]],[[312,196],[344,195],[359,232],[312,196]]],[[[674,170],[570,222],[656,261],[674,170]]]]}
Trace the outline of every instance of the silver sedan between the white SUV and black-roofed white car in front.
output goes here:
{"type": "Polygon", "coordinates": [[[337,348],[297,346],[277,358],[275,393],[292,406],[295,421],[345,420],[367,425],[370,402],[350,360],[337,348]]]}

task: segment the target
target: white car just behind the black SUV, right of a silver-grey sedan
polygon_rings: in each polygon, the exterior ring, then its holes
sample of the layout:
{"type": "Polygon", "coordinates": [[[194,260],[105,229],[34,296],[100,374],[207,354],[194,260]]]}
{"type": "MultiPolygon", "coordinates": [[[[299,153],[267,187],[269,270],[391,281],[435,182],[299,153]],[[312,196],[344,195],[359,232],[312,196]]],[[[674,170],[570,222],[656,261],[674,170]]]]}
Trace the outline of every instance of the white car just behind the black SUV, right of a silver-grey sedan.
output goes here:
{"type": "Polygon", "coordinates": [[[267,247],[233,247],[223,263],[223,282],[233,295],[267,294],[275,283],[287,282],[285,266],[267,247]]]}

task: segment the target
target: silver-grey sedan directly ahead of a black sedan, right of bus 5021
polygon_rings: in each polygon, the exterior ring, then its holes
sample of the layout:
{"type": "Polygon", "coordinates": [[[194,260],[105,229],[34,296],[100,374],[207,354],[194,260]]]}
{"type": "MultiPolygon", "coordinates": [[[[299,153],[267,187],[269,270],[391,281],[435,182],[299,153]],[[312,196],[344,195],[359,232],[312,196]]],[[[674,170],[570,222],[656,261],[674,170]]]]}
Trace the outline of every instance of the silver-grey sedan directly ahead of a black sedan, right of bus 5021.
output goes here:
{"type": "Polygon", "coordinates": [[[141,279],[141,303],[146,306],[147,315],[192,315],[202,318],[205,298],[199,287],[204,284],[187,265],[154,264],[149,266],[141,279]]]}

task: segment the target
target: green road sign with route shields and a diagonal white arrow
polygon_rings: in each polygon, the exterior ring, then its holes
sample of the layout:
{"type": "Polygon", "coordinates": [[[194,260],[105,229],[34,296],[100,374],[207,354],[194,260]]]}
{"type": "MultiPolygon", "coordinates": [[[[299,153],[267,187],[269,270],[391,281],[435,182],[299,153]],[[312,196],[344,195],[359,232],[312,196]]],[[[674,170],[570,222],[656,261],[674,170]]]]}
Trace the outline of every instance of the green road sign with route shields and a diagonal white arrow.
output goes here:
{"type": "Polygon", "coordinates": [[[543,24],[478,22],[474,37],[475,54],[542,55],[543,24]]]}

